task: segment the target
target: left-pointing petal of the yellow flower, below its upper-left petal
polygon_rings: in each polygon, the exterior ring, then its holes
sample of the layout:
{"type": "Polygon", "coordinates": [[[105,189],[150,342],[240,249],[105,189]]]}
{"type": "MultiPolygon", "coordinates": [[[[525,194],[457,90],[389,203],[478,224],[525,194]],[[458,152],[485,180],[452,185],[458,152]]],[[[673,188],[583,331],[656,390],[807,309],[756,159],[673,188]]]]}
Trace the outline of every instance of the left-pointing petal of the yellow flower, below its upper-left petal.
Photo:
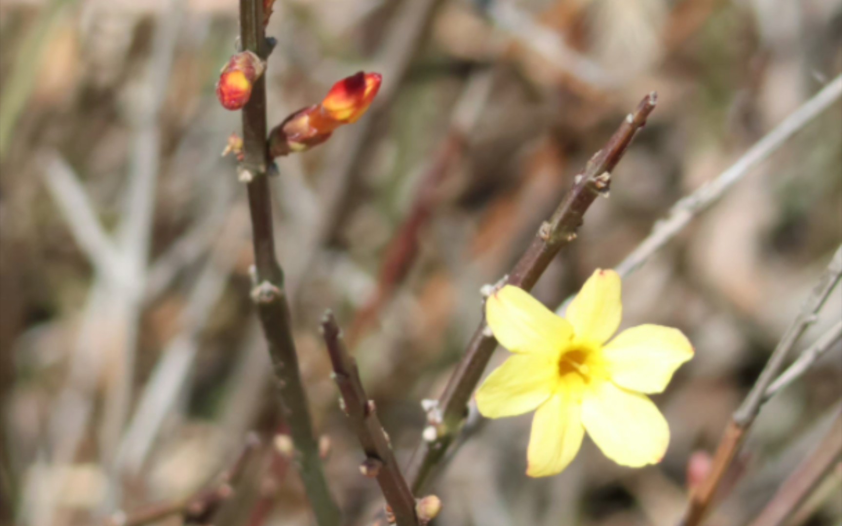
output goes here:
{"type": "Polygon", "coordinates": [[[514,354],[488,375],[477,390],[477,409],[487,418],[512,417],[534,410],[556,388],[558,365],[546,355],[514,354]]]}

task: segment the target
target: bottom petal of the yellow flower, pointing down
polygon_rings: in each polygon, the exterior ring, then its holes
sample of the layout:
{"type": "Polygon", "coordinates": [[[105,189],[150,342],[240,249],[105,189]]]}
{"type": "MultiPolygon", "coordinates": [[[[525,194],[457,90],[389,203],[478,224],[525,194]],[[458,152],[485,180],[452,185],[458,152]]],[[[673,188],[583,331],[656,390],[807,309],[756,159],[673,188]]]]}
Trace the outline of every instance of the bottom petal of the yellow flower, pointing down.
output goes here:
{"type": "Polygon", "coordinates": [[[538,407],[532,418],[526,475],[551,476],[568,467],[584,437],[579,412],[578,403],[563,392],[538,407]]]}

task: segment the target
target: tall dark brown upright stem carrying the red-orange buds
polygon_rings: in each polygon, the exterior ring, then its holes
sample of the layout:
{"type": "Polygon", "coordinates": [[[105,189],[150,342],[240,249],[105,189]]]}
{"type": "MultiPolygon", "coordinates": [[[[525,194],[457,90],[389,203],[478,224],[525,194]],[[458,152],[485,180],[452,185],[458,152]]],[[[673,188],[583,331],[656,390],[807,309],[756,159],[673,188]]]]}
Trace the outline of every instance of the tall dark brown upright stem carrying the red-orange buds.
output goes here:
{"type": "MultiPolygon", "coordinates": [[[[268,53],[264,35],[263,2],[240,0],[240,40],[243,50],[265,59],[268,53]]],[[[339,508],[333,502],[322,470],[318,443],[298,366],[296,345],[290,327],[290,309],[284,290],[284,273],[275,259],[272,231],[272,200],[266,176],[266,84],[264,74],[254,82],[252,96],[242,109],[244,159],[240,178],[247,181],[248,208],[251,212],[254,243],[252,299],[269,343],[274,375],[280,391],[284,419],[296,446],[307,497],[320,526],[337,526],[339,508]]]]}

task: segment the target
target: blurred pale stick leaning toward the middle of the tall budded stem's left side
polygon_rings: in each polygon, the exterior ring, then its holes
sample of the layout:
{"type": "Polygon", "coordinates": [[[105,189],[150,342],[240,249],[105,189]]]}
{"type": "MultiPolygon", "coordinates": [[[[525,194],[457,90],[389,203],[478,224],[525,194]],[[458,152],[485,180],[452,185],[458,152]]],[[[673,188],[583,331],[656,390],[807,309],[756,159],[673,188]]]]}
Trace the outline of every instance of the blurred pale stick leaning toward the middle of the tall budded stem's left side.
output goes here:
{"type": "Polygon", "coordinates": [[[242,248],[241,233],[248,221],[247,213],[242,205],[229,213],[216,247],[196,279],[187,305],[179,315],[181,329],[163,349],[162,357],[139,397],[137,408],[117,449],[115,470],[121,475],[137,475],[147,460],[165,417],[172,412],[179,394],[188,382],[199,351],[198,338],[210,318],[210,311],[225,290],[226,280],[242,248]]]}

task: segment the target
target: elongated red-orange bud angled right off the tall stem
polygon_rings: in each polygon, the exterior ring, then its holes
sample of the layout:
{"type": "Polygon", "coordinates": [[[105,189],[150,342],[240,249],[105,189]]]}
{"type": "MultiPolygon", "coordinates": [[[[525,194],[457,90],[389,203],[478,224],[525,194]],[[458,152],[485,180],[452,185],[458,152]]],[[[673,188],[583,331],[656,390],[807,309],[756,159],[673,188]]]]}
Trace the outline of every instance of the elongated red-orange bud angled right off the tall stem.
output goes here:
{"type": "Polygon", "coordinates": [[[359,72],[333,84],[321,104],[299,109],[269,132],[271,157],[309,150],[327,141],[339,126],[360,120],[381,80],[378,73],[359,72]]]}

